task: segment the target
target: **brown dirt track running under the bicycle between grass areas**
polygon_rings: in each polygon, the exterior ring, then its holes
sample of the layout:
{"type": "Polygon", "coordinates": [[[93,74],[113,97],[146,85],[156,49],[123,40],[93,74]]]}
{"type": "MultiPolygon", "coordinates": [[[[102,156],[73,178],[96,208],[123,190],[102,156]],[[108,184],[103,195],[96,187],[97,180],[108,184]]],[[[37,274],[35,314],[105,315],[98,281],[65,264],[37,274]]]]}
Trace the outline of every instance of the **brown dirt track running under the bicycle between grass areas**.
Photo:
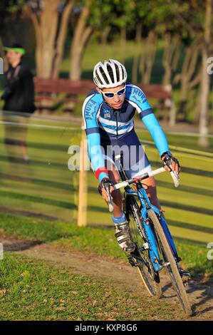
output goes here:
{"type": "MultiPolygon", "coordinates": [[[[108,277],[113,280],[115,286],[134,292],[134,287],[141,287],[140,294],[147,294],[142,286],[137,269],[130,267],[128,262],[118,261],[110,257],[100,257],[96,254],[67,251],[48,244],[26,242],[21,239],[5,237],[1,239],[5,251],[24,254],[26,257],[43,259],[57,266],[71,268],[74,273],[86,274],[91,277],[108,277]]],[[[175,292],[165,274],[161,274],[162,299],[171,299],[177,302],[175,292]]],[[[213,320],[213,285],[192,280],[187,287],[189,302],[194,310],[192,320],[213,320]]],[[[183,319],[180,313],[180,319],[183,319]]]]}

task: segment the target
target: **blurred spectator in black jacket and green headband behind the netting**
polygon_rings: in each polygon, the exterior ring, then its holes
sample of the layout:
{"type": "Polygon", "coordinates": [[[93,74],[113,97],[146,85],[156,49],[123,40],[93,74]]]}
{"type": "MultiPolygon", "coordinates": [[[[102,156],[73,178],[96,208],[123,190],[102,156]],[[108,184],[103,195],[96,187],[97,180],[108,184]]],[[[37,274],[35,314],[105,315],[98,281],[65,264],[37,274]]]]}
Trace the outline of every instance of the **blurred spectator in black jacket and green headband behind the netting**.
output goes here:
{"type": "Polygon", "coordinates": [[[16,115],[16,122],[20,123],[16,127],[5,124],[4,143],[10,160],[13,160],[14,157],[12,157],[9,147],[19,144],[21,145],[22,158],[27,162],[29,160],[26,150],[28,117],[36,110],[34,105],[33,75],[24,66],[22,58],[26,51],[21,44],[13,43],[11,46],[4,47],[4,51],[9,61],[9,70],[5,73],[4,93],[1,96],[1,99],[4,100],[4,120],[8,120],[11,115],[16,115]]]}

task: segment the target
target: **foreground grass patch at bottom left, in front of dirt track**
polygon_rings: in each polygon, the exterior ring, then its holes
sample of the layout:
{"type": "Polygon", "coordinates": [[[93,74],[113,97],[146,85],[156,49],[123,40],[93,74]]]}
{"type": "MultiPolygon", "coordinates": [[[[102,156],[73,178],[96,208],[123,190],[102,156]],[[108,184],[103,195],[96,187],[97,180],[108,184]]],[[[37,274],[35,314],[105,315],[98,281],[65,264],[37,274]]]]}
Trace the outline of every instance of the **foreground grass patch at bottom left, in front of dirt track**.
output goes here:
{"type": "Polygon", "coordinates": [[[172,314],[175,304],[166,299],[139,297],[108,279],[76,275],[10,253],[0,262],[0,308],[1,321],[178,319],[172,314]]]}

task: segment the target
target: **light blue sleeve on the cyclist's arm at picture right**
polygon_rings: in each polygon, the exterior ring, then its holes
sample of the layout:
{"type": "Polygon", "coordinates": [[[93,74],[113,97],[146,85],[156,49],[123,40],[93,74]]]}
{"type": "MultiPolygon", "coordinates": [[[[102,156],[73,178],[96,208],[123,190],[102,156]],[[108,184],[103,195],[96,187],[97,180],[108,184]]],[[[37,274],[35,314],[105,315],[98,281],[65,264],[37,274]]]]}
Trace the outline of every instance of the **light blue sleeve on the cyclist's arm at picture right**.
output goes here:
{"type": "Polygon", "coordinates": [[[150,135],[155,142],[160,156],[162,155],[162,153],[169,151],[166,135],[160,127],[160,124],[158,123],[158,120],[155,117],[155,114],[153,113],[153,110],[148,103],[145,94],[139,87],[130,84],[127,86],[127,95],[128,100],[136,108],[142,122],[144,123],[147,130],[150,132],[150,135]]]}

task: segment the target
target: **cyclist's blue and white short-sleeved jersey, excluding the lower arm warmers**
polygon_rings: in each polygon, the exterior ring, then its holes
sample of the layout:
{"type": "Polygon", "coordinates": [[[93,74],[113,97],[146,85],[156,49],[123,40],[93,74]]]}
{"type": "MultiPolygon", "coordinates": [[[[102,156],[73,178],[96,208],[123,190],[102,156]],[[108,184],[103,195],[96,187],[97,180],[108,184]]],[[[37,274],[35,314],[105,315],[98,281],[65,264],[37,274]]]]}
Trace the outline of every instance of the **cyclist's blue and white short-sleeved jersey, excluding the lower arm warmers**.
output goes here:
{"type": "Polygon", "coordinates": [[[113,110],[98,91],[89,93],[83,104],[85,131],[102,136],[120,138],[134,128],[135,110],[143,118],[152,112],[145,94],[133,84],[126,86],[125,101],[119,110],[113,110]]]}

